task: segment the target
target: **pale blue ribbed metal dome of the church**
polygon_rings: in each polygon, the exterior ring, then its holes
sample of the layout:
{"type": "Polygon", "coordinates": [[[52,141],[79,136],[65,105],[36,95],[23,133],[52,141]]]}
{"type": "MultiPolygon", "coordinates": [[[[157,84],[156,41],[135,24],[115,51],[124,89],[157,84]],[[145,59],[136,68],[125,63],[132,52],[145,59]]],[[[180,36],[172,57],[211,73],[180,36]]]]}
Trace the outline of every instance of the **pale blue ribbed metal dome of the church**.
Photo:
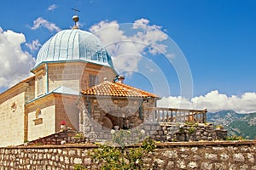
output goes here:
{"type": "Polygon", "coordinates": [[[110,66],[113,62],[102,42],[88,31],[63,30],[49,38],[40,48],[37,63],[85,61],[110,66]]]}

